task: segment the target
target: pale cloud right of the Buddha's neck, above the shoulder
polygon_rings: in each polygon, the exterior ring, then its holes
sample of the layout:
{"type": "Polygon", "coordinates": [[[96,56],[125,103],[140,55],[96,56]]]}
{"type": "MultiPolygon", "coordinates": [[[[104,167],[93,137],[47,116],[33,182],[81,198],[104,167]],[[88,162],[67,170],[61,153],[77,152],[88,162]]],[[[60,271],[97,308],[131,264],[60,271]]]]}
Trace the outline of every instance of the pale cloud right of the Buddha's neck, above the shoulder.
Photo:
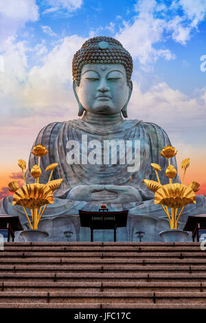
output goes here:
{"type": "MultiPolygon", "coordinates": [[[[144,93],[133,82],[133,94],[128,106],[129,118],[138,118],[162,126],[166,132],[176,133],[187,141],[203,132],[206,118],[206,89],[189,98],[171,89],[165,82],[157,82],[144,93]]],[[[202,135],[199,135],[199,142],[202,135]]]]}

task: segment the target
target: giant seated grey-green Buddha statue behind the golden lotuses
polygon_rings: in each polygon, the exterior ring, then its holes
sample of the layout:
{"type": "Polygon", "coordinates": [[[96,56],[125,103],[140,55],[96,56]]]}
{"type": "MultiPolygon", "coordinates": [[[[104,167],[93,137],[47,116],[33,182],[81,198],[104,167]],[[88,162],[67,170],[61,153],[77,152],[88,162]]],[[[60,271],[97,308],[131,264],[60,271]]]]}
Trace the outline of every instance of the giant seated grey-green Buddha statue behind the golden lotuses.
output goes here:
{"type": "MultiPolygon", "coordinates": [[[[78,211],[97,211],[102,203],[108,210],[128,210],[127,227],[117,229],[117,241],[136,241],[137,231],[145,232],[144,241],[161,241],[159,232],[170,228],[142,180],[156,180],[150,166],[156,163],[163,170],[159,172],[161,183],[166,183],[168,164],[159,152],[171,143],[157,124],[126,120],[132,71],[130,54],[113,38],[91,38],[73,56],[73,92],[82,118],[52,122],[34,142],[49,150],[41,158],[41,169],[57,162],[52,179],[64,179],[39,225],[49,233],[47,241],[65,241],[63,232],[67,230],[73,232],[73,241],[89,241],[89,229],[80,227],[78,211]]],[[[38,157],[31,154],[29,169],[34,164],[38,164],[38,157]]],[[[175,157],[171,164],[176,167],[175,157]]],[[[27,183],[34,181],[29,171],[25,177],[27,183]]],[[[46,183],[48,177],[43,172],[40,182],[46,183]]],[[[174,181],[180,181],[178,174],[174,181]]],[[[205,210],[205,197],[199,195],[196,205],[185,207],[179,228],[188,215],[205,210]]],[[[28,227],[22,208],[12,205],[12,196],[1,200],[0,212],[19,215],[23,227],[28,227]]],[[[21,241],[21,236],[18,239],[21,241]]],[[[95,240],[112,241],[113,233],[98,230],[95,240]]]]}

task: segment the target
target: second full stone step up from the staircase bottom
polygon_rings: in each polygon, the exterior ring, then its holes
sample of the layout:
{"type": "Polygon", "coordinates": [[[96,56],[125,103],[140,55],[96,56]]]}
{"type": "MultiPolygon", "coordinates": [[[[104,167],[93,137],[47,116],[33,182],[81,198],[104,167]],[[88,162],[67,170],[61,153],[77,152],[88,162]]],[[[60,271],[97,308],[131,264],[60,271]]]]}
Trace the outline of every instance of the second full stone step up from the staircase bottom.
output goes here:
{"type": "Polygon", "coordinates": [[[206,292],[206,282],[1,282],[0,291],[178,291],[206,292]]]}

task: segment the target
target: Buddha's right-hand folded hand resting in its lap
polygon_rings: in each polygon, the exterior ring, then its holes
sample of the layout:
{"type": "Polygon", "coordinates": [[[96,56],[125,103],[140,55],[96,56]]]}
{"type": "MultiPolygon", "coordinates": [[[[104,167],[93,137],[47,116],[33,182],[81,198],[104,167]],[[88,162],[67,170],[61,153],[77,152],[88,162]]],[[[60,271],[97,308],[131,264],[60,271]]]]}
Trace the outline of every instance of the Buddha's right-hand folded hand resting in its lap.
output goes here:
{"type": "Polygon", "coordinates": [[[137,190],[137,188],[133,188],[132,186],[105,185],[104,190],[117,194],[117,197],[113,199],[113,203],[142,201],[139,190],[137,190]]]}

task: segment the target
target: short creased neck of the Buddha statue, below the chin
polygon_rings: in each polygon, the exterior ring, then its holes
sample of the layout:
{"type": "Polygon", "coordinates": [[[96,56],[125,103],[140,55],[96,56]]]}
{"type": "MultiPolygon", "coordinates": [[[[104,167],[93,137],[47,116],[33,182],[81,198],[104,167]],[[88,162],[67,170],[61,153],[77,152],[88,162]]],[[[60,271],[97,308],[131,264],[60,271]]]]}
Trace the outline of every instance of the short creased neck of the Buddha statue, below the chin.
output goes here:
{"type": "Polygon", "coordinates": [[[82,120],[87,122],[119,122],[123,121],[121,112],[116,114],[96,114],[85,111],[82,120]]]}

